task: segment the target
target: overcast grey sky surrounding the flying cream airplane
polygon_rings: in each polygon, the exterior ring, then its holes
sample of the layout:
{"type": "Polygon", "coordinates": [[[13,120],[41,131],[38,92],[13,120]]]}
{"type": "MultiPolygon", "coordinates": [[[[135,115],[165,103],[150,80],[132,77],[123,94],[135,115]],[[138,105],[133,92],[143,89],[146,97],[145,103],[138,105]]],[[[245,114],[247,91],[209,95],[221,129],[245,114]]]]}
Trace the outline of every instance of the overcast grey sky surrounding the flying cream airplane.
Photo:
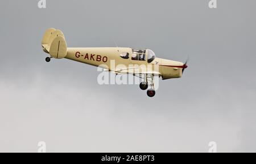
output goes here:
{"type": "Polygon", "coordinates": [[[256,152],[256,1],[3,1],[0,152],[256,152]],[[46,63],[47,28],[69,47],[148,48],[190,61],[154,98],[98,85],[97,68],[46,63]]]}

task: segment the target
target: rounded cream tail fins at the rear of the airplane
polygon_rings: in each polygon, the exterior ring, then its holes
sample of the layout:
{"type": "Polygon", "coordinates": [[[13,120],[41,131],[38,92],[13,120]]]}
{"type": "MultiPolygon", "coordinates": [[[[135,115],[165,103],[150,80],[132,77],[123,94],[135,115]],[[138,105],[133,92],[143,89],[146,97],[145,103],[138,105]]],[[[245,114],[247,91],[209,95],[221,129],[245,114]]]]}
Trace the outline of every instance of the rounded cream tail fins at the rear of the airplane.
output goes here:
{"type": "Polygon", "coordinates": [[[60,59],[67,55],[67,43],[63,32],[59,29],[47,29],[42,40],[42,47],[44,52],[50,54],[53,58],[60,59]]]}

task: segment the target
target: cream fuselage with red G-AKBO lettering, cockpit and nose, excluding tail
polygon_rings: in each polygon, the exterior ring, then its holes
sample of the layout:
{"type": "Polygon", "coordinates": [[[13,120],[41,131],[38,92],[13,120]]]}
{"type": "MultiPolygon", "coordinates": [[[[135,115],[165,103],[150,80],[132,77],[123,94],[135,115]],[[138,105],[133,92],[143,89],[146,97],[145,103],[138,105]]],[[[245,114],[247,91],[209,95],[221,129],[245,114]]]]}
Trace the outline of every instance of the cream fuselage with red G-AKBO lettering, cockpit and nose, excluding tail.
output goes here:
{"type": "Polygon", "coordinates": [[[144,67],[139,72],[158,72],[162,79],[179,78],[182,76],[184,64],[161,58],[152,58],[152,52],[148,49],[131,48],[67,48],[64,58],[73,61],[102,67],[109,71],[117,71],[120,68],[144,67]],[[152,59],[151,59],[151,58],[152,59]]]}

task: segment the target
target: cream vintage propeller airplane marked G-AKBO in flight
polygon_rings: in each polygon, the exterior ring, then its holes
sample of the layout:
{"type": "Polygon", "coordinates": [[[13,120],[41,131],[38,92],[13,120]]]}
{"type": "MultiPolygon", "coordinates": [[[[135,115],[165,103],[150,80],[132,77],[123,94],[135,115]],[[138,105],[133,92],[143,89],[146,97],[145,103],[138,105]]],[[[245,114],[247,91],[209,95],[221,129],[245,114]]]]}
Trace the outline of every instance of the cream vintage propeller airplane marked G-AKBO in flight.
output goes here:
{"type": "Polygon", "coordinates": [[[63,32],[55,28],[49,28],[44,33],[42,48],[45,53],[50,55],[46,58],[46,62],[50,62],[51,58],[66,58],[105,68],[117,75],[131,74],[140,77],[143,81],[139,84],[139,88],[146,90],[150,84],[150,89],[147,90],[148,97],[155,96],[155,76],[162,77],[163,80],[179,78],[188,67],[187,61],[182,63],[156,58],[154,51],[150,49],[68,48],[63,32]],[[115,67],[111,67],[112,61],[114,61],[115,67]],[[118,67],[118,65],[122,67],[118,67]]]}

